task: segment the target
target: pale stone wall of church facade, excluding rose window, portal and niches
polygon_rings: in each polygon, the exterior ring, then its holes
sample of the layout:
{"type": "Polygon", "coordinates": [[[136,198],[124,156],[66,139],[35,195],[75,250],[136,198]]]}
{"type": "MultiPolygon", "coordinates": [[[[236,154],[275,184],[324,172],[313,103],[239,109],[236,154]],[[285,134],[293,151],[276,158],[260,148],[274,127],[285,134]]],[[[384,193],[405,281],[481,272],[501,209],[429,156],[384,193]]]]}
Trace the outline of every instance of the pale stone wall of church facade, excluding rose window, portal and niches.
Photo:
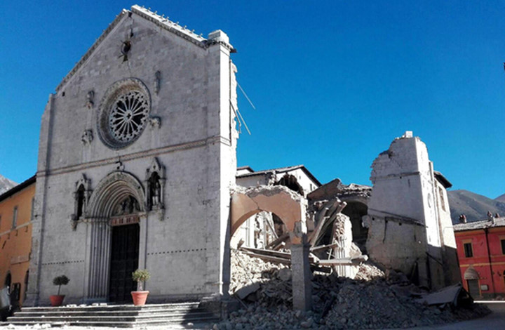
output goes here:
{"type": "MultiPolygon", "coordinates": [[[[110,235],[104,229],[99,230],[102,236],[93,236],[97,223],[105,221],[102,226],[108,226],[108,215],[89,218],[86,213],[72,230],[75,183],[85,174],[96,190],[110,173],[119,171],[137,180],[132,190],[145,194],[145,173],[155,157],[166,172],[164,211],[149,211],[144,200],[138,201],[139,267],[152,273],[146,289],[153,299],[227,292],[229,266],[224,260],[229,253],[229,187],[235,183],[237,138],[230,106],[231,102],[236,107],[236,69],[229,58],[230,46],[206,44],[189,32],[183,35],[160,28],[160,16],[142,14],[138,7],[129,14],[123,11],[116,18],[100,44],[50,95],[43,113],[31,303],[47,303],[54,291],[51,280],[60,274],[71,279],[63,289],[68,302],[107,299],[107,288],[91,297],[90,286],[92,277],[108,285],[109,248],[105,244],[102,250],[91,251],[97,246],[93,239],[106,242],[110,235]],[[129,36],[131,51],[123,62],[119,57],[125,36],[129,36]],[[156,72],[161,72],[158,93],[154,92],[156,72]],[[147,124],[140,137],[122,149],[107,147],[99,138],[83,145],[83,131],[97,136],[97,113],[107,88],[131,77],[147,86],[150,115],[159,118],[160,125],[147,124]],[[88,103],[89,91],[94,91],[93,107],[88,103]],[[93,253],[105,253],[102,263],[92,265],[93,253]]],[[[118,201],[107,201],[114,202],[118,201]]]]}

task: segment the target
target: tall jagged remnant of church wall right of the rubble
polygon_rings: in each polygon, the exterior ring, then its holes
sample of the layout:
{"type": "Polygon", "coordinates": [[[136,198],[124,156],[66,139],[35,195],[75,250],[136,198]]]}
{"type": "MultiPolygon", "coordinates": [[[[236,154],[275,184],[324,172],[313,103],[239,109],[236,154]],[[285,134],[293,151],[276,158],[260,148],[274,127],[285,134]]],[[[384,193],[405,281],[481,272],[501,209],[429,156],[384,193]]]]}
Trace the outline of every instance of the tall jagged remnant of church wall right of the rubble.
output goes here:
{"type": "Polygon", "coordinates": [[[440,218],[439,186],[426,145],[412,132],[396,138],[373,162],[370,180],[365,220],[370,258],[434,289],[457,282],[444,275],[457,271],[448,251],[454,232],[440,218]]]}

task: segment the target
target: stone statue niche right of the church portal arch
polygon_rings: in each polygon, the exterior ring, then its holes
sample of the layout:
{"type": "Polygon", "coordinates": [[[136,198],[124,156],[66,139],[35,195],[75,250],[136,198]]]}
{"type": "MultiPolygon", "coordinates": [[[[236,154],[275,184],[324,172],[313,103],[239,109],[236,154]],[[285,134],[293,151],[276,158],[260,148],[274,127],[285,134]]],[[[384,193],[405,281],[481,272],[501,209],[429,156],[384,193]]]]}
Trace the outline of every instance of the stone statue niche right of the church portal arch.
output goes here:
{"type": "MultiPolygon", "coordinates": [[[[165,209],[165,166],[161,165],[153,157],[151,161],[151,166],[146,169],[145,174],[145,207],[147,211],[156,211],[165,209]]],[[[160,219],[163,219],[163,214],[161,214],[160,219]]]]}

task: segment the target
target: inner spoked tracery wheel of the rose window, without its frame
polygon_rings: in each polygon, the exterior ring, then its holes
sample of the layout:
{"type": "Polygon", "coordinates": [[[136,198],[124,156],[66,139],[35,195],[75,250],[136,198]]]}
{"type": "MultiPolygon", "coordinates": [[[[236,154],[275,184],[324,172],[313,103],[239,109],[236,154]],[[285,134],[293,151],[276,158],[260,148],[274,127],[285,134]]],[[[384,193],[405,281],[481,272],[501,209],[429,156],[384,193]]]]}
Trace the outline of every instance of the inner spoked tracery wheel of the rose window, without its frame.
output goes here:
{"type": "Polygon", "coordinates": [[[112,136],[121,142],[132,140],[142,132],[148,114],[149,104],[139,91],[119,96],[109,112],[112,136]]]}

